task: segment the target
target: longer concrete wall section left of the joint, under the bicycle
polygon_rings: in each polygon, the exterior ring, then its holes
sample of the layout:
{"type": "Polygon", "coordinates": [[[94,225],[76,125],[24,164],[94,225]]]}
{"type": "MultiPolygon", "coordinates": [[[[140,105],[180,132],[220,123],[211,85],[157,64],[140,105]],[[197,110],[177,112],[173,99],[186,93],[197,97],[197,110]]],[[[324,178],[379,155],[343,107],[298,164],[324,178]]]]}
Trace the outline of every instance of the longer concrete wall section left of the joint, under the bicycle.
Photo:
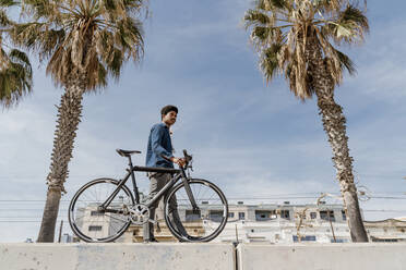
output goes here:
{"type": "Polygon", "coordinates": [[[231,244],[0,244],[0,269],[235,269],[231,244]]]}

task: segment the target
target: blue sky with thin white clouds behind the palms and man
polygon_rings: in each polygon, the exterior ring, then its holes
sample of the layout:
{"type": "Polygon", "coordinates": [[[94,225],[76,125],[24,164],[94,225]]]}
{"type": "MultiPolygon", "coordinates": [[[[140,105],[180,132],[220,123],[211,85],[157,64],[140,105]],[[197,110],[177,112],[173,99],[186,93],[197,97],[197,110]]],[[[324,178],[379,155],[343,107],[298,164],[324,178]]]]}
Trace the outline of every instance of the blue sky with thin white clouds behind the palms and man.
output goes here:
{"type": "MultiPolygon", "coordinates": [[[[406,216],[406,3],[390,3],[368,1],[366,42],[343,48],[358,73],[345,75],[335,90],[347,118],[356,182],[369,195],[360,201],[366,220],[406,216]]],[[[115,149],[143,151],[133,162],[144,164],[150,128],[166,105],[179,108],[176,154],[188,149],[193,176],[216,183],[231,202],[302,204],[321,193],[339,194],[315,99],[298,100],[283,78],[266,85],[258,69],[242,26],[250,7],[249,0],[151,1],[143,61],[128,63],[118,82],[84,98],[58,228],[63,220],[63,232],[70,231],[67,208],[80,186],[124,175],[127,160],[115,149]]],[[[63,93],[35,56],[32,61],[33,94],[0,112],[3,243],[37,237],[63,93]]],[[[148,180],[136,177],[146,193],[148,180]]]]}

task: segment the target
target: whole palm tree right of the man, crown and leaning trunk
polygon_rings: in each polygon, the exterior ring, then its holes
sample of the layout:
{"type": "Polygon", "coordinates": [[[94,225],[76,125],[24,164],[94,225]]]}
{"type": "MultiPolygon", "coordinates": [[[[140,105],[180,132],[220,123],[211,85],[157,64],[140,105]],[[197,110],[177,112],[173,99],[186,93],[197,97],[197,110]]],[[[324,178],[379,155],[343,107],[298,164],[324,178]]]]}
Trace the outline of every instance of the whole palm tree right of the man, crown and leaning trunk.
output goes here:
{"type": "Polygon", "coordinates": [[[334,100],[334,89],[342,83],[344,70],[355,73],[351,60],[334,46],[362,41],[369,30],[367,17],[343,0],[255,0],[254,8],[244,15],[244,23],[259,51],[266,82],[280,73],[296,97],[306,100],[317,96],[351,240],[368,242],[354,184],[346,119],[334,100]]]}

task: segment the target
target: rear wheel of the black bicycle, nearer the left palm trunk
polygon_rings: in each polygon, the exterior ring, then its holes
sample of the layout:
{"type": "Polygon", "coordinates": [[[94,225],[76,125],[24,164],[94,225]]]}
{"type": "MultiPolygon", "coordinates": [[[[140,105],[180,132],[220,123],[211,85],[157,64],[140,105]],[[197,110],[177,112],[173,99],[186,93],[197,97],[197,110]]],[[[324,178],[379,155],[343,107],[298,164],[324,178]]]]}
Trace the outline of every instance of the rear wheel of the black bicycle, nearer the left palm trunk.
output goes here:
{"type": "Polygon", "coordinates": [[[69,205],[68,218],[72,231],[85,242],[106,243],[117,240],[129,228],[131,220],[123,206],[134,205],[130,189],[123,185],[107,211],[98,209],[118,186],[118,181],[97,179],[82,186],[69,205]],[[115,212],[108,212],[108,211],[115,212]]]}

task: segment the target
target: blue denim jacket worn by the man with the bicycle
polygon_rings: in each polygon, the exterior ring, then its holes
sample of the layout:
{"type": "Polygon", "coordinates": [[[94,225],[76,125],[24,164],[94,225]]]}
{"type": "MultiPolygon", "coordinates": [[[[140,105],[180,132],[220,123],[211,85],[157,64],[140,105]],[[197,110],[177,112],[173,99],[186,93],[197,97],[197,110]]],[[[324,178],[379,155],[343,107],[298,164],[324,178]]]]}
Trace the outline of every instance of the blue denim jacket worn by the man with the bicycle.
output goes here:
{"type": "Polygon", "coordinates": [[[169,128],[166,124],[155,124],[151,128],[148,145],[146,147],[146,167],[174,168],[174,163],[162,158],[162,155],[170,158],[172,155],[172,143],[169,128]]]}

